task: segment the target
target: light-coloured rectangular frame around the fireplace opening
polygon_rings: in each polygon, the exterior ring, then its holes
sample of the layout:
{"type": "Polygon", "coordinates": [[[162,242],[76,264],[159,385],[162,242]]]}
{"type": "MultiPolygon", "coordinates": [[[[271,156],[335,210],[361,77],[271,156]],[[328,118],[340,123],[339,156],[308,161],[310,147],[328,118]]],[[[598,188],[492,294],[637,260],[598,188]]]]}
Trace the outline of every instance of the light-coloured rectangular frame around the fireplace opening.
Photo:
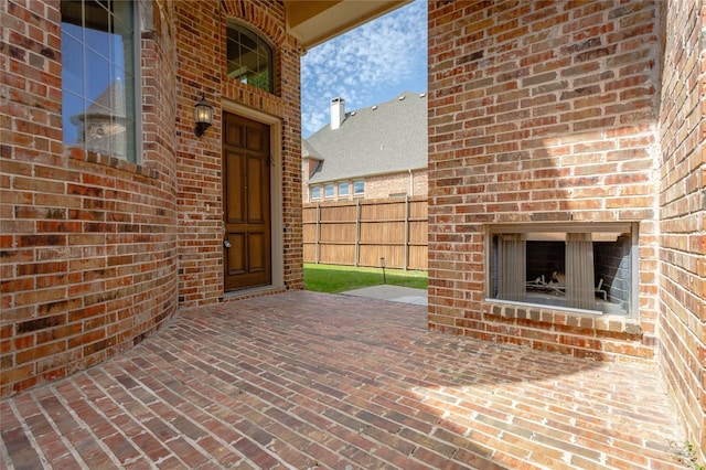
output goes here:
{"type": "MultiPolygon", "coordinates": [[[[510,303],[518,306],[530,306],[541,309],[561,310],[575,313],[589,313],[598,317],[619,317],[627,319],[639,319],[640,314],[640,239],[639,239],[639,223],[638,222],[606,222],[606,223],[570,223],[570,224],[490,224],[485,227],[485,291],[484,301],[492,303],[510,303]],[[494,252],[493,252],[493,238],[501,234],[538,234],[538,233],[554,233],[554,234],[593,234],[593,233],[616,233],[616,234],[629,234],[630,235],[630,253],[629,253],[629,266],[630,271],[628,274],[629,293],[628,308],[624,313],[603,312],[599,309],[582,309],[568,306],[559,306],[554,303],[543,303],[522,300],[509,300],[502,299],[494,295],[494,252]]],[[[526,260],[526,255],[525,255],[526,260]]],[[[595,263],[595,261],[593,261],[595,263]]],[[[500,269],[500,266],[498,266],[500,269]]],[[[500,275],[499,275],[500,276],[500,275]]],[[[523,277],[526,277],[523,274],[523,277]]],[[[527,279],[525,279],[527,281],[527,279]]],[[[593,286],[596,287],[596,286],[593,286]]],[[[526,288],[525,288],[526,292],[526,288]]]]}

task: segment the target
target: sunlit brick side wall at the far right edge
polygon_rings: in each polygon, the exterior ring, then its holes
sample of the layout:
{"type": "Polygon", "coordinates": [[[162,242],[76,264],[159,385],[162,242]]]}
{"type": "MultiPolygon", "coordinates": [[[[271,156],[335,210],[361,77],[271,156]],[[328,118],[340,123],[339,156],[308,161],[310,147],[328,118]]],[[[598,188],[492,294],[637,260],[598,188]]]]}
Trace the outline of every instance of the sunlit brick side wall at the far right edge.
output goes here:
{"type": "Polygon", "coordinates": [[[665,2],[660,110],[660,365],[706,460],[706,4],[665,2]]]}

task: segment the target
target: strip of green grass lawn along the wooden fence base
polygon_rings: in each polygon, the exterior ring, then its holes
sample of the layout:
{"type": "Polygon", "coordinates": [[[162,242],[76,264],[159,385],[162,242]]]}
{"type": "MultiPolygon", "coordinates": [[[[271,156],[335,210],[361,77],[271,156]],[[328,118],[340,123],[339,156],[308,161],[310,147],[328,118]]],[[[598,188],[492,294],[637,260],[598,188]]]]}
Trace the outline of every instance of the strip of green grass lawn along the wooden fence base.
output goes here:
{"type": "MultiPolygon", "coordinates": [[[[386,284],[426,289],[427,273],[385,268],[386,284]]],[[[363,287],[379,286],[382,268],[356,268],[352,266],[304,264],[304,289],[318,292],[343,292],[363,287]]]]}

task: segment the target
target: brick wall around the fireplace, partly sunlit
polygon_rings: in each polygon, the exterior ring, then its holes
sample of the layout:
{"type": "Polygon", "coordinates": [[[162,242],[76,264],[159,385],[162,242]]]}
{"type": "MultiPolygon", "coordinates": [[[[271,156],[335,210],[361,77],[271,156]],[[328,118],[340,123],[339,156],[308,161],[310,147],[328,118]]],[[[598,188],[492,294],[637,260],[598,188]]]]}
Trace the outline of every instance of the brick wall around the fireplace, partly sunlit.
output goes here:
{"type": "Polygon", "coordinates": [[[657,2],[429,2],[429,327],[654,355],[657,2]],[[638,222],[640,321],[485,300],[493,223],[638,222]]]}

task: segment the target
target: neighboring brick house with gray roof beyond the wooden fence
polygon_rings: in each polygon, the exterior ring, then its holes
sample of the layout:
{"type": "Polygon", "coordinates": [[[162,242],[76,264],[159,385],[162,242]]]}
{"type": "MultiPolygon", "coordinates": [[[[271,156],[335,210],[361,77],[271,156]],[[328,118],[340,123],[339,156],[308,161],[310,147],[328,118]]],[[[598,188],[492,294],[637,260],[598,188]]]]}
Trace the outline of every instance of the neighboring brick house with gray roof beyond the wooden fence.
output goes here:
{"type": "Polygon", "coordinates": [[[427,194],[427,94],[345,111],[302,141],[304,203],[427,194]]]}

